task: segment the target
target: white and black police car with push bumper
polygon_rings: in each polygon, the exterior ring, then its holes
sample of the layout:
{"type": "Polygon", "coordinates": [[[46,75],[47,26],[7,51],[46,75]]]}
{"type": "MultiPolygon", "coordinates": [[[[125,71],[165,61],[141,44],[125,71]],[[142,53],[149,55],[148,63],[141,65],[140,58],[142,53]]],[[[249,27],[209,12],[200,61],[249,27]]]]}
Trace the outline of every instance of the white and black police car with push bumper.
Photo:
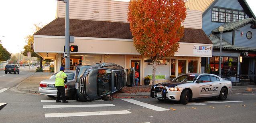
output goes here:
{"type": "Polygon", "coordinates": [[[226,100],[232,91],[231,81],[206,73],[188,73],[180,75],[171,82],[158,83],[152,86],[150,97],[159,101],[181,101],[187,104],[193,99],[218,97],[226,100]]]}

